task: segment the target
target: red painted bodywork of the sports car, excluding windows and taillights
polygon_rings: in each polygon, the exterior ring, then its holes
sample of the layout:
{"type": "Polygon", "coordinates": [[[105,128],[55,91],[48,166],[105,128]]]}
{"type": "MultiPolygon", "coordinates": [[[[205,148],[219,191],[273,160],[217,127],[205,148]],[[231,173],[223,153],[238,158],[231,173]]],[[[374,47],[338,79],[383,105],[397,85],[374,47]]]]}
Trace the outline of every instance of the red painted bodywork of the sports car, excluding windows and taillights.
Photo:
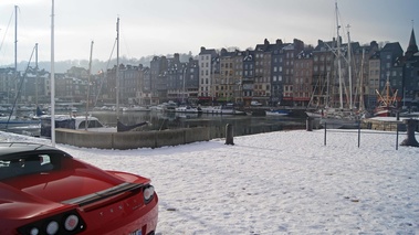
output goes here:
{"type": "Polygon", "coordinates": [[[0,234],[19,234],[19,227],[72,210],[84,222],[77,234],[149,234],[158,220],[157,194],[144,199],[149,183],[147,178],[104,171],[72,157],[63,158],[56,170],[1,179],[0,234]]]}

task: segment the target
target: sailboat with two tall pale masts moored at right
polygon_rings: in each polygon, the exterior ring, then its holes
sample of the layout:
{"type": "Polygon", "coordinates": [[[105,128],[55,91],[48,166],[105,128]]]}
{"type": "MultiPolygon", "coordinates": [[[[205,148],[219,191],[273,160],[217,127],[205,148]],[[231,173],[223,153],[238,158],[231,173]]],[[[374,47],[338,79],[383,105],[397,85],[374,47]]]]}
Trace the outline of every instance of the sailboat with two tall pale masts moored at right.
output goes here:
{"type": "MultiPolygon", "coordinates": [[[[338,78],[338,107],[334,107],[332,104],[328,108],[322,110],[322,116],[320,124],[326,128],[343,128],[343,129],[353,129],[358,128],[359,126],[359,116],[355,113],[355,108],[353,105],[353,94],[352,94],[352,67],[350,67],[350,40],[349,40],[349,33],[348,33],[348,44],[347,44],[347,53],[348,53],[348,87],[345,88],[346,90],[346,98],[344,104],[344,79],[343,79],[343,71],[342,71],[342,60],[344,60],[344,55],[342,52],[342,42],[341,42],[341,35],[339,35],[339,21],[338,21],[338,9],[337,9],[337,2],[335,2],[335,12],[336,12],[336,62],[337,62],[337,78],[338,78]]],[[[346,58],[345,58],[346,60],[346,58]]],[[[332,100],[334,100],[334,97],[332,97],[332,100]]]]}

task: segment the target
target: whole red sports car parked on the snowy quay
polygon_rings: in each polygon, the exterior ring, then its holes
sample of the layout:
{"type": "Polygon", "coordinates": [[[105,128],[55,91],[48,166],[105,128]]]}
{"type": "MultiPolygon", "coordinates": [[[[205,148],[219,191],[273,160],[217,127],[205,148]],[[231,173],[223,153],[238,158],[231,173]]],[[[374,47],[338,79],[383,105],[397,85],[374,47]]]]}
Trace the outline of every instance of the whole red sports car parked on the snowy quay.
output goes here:
{"type": "Polygon", "coordinates": [[[0,143],[0,234],[155,234],[150,180],[53,147],[0,143]]]}

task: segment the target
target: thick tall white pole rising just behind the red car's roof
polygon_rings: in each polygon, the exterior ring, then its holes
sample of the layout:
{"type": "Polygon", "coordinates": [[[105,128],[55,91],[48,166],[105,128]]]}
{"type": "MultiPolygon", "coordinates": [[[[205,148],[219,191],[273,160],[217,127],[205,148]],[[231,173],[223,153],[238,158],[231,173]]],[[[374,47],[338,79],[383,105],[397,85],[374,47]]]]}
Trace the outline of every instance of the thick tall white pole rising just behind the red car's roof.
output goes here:
{"type": "Polygon", "coordinates": [[[55,147],[54,0],[51,10],[51,145],[55,147]]]}

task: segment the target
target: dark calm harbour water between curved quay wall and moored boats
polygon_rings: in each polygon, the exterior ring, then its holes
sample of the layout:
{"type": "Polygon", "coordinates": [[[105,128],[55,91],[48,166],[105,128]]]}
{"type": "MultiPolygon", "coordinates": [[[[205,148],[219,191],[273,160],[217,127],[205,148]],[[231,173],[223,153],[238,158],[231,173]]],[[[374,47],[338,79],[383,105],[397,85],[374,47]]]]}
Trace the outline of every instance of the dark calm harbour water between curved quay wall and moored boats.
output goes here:
{"type": "MultiPolygon", "coordinates": [[[[116,126],[116,113],[93,113],[103,124],[116,126]]],[[[164,130],[188,127],[209,127],[210,138],[226,137],[226,125],[233,125],[234,136],[245,136],[261,132],[271,132],[286,129],[304,129],[305,118],[293,117],[254,117],[234,115],[206,115],[206,114],[179,114],[158,111],[122,113],[119,121],[125,125],[134,125],[148,121],[148,130],[164,130]]]]}

